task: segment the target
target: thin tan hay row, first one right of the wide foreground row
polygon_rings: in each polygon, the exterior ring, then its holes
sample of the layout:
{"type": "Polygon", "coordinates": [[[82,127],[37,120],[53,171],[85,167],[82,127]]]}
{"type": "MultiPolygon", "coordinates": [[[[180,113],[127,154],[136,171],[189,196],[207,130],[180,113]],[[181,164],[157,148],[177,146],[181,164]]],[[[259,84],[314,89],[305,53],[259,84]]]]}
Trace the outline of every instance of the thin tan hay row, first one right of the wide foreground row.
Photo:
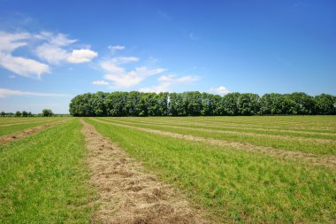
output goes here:
{"type": "Polygon", "coordinates": [[[274,149],[271,147],[256,146],[250,143],[229,142],[225,140],[204,138],[204,137],[199,137],[199,136],[194,136],[194,135],[182,135],[182,134],[172,133],[168,131],[155,130],[155,129],[145,128],[145,127],[128,126],[128,125],[123,125],[123,124],[107,122],[103,120],[95,120],[95,121],[101,122],[101,123],[113,124],[119,127],[134,128],[134,129],[138,129],[141,131],[145,131],[145,132],[153,133],[157,135],[167,135],[167,136],[171,136],[171,137],[175,137],[179,139],[186,139],[189,141],[206,142],[206,143],[210,143],[212,145],[218,145],[218,146],[229,146],[235,150],[240,150],[240,151],[254,151],[254,152],[262,153],[266,156],[274,156],[278,158],[299,160],[302,162],[309,163],[310,165],[326,166],[328,168],[331,168],[332,170],[336,170],[336,156],[332,156],[332,155],[319,156],[319,155],[305,153],[301,151],[284,151],[284,150],[274,149]]]}

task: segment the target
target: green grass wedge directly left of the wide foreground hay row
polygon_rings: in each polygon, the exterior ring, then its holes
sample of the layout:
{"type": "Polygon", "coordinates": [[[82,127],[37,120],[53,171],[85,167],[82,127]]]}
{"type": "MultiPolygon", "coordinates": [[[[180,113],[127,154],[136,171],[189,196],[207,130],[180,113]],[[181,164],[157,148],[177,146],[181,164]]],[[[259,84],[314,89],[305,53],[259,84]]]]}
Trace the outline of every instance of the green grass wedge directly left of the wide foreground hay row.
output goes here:
{"type": "Polygon", "coordinates": [[[89,223],[80,122],[69,120],[0,146],[0,223],[89,223]]]}

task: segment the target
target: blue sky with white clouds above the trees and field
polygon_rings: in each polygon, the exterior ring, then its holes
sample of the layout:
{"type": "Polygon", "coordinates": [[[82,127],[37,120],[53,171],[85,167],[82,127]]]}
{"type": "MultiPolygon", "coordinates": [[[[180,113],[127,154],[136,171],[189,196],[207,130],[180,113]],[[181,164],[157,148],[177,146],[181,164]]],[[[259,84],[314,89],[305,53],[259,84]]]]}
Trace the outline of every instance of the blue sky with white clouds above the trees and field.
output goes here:
{"type": "Polygon", "coordinates": [[[0,111],[131,90],[336,95],[336,1],[0,0],[0,111]]]}

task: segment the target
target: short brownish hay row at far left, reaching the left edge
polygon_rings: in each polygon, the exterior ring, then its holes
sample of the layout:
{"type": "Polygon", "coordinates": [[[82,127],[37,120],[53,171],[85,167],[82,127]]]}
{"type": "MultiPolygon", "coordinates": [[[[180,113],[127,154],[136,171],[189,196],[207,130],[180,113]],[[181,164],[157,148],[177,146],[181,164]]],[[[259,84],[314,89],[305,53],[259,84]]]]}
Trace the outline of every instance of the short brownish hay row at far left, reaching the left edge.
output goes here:
{"type": "Polygon", "coordinates": [[[0,144],[9,143],[13,140],[25,137],[27,135],[34,135],[34,134],[42,131],[42,129],[44,129],[44,128],[52,127],[52,126],[55,126],[55,125],[63,123],[63,122],[65,122],[65,120],[59,120],[57,122],[52,122],[52,123],[45,124],[45,125],[42,125],[42,126],[31,127],[31,128],[25,129],[23,131],[20,131],[18,133],[0,136],[0,144]]]}

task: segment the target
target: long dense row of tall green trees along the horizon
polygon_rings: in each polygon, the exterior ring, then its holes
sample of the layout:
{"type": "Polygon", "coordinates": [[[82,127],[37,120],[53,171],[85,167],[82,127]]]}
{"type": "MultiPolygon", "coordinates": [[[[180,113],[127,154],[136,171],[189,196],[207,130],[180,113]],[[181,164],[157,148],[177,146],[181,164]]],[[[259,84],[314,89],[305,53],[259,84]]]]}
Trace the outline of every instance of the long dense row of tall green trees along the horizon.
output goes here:
{"type": "Polygon", "coordinates": [[[336,114],[336,97],[302,92],[229,93],[224,97],[198,91],[183,93],[97,92],[73,97],[73,116],[220,116],[336,114]]]}

